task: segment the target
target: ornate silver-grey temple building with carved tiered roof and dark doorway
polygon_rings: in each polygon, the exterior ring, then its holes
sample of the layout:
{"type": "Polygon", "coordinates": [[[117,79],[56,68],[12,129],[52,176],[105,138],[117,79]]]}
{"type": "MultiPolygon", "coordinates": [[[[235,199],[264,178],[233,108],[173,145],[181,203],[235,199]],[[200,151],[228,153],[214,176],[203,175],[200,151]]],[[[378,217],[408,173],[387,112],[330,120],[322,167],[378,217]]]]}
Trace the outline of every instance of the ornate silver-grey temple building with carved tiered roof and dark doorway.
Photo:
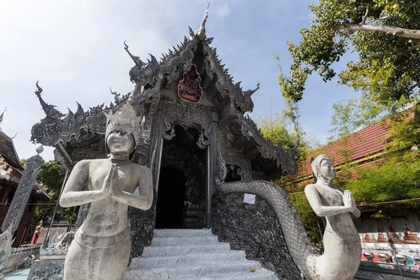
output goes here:
{"type": "MultiPolygon", "coordinates": [[[[200,29],[190,28],[188,37],[159,60],[150,55],[144,61],[124,42],[127,59],[134,62],[130,69],[134,90],[125,95],[111,91],[115,101],[109,106],[85,111],[78,104],[76,113],[64,115],[44,101],[43,90],[36,84],[36,97],[46,116],[32,127],[31,141],[55,147],[55,158],[69,170],[80,160],[106,158],[105,113],[130,102],[141,116],[141,139],[132,160],[151,168],[155,200],[151,210],[129,209],[132,257],[151,244],[155,229],[218,228],[225,218],[219,213],[226,204],[225,197],[218,196],[223,184],[297,174],[295,151],[274,146],[247,115],[253,111],[251,96],[260,85],[244,90],[240,82],[234,82],[211,46],[213,38],[206,36],[206,20],[207,13],[200,29]]],[[[254,186],[258,188],[257,183],[254,186]]],[[[87,211],[87,205],[80,207],[76,227],[87,211]]],[[[276,228],[280,225],[272,221],[276,214],[269,211],[271,218],[260,219],[255,227],[267,223],[273,235],[282,235],[276,228]]],[[[299,230],[304,233],[303,228],[299,230]]],[[[281,237],[276,242],[285,246],[281,237]]],[[[281,252],[273,251],[273,258],[281,258],[281,252]]],[[[284,254],[285,263],[292,264],[290,255],[284,254]]]]}

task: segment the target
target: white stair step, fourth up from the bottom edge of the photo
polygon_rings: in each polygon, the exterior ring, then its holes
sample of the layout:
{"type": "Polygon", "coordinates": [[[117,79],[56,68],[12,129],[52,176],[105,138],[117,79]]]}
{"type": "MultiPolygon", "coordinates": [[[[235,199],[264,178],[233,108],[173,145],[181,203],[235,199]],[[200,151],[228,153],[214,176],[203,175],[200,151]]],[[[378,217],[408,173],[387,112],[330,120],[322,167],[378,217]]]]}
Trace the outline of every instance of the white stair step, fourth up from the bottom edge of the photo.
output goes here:
{"type": "Polygon", "coordinates": [[[169,255],[186,255],[188,253],[216,253],[230,251],[229,243],[211,245],[185,245],[185,246],[148,246],[144,247],[142,257],[156,257],[169,255]]]}

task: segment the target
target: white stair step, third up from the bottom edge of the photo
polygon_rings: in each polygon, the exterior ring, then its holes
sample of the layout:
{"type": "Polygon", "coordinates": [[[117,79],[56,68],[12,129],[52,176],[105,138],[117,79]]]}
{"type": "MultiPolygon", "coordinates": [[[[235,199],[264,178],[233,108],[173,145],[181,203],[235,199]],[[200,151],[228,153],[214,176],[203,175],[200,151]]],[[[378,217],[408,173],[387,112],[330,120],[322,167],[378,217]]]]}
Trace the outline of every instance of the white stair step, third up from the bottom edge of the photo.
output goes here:
{"type": "Polygon", "coordinates": [[[206,265],[216,262],[234,262],[246,260],[244,251],[229,251],[223,253],[198,253],[187,255],[156,256],[133,258],[130,267],[151,269],[153,267],[170,267],[174,265],[206,265]]]}

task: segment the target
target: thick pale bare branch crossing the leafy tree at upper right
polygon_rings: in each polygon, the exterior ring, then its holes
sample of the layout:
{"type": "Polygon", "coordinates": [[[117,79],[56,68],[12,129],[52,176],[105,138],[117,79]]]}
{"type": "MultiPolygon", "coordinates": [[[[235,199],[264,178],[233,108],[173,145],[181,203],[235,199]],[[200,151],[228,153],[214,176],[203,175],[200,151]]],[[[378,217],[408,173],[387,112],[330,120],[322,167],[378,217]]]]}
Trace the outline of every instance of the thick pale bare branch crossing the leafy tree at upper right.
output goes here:
{"type": "Polygon", "coordinates": [[[332,27],[334,30],[353,30],[391,33],[395,36],[404,38],[420,39],[420,30],[405,29],[400,27],[391,27],[388,25],[358,25],[350,22],[344,22],[342,25],[332,27]]]}

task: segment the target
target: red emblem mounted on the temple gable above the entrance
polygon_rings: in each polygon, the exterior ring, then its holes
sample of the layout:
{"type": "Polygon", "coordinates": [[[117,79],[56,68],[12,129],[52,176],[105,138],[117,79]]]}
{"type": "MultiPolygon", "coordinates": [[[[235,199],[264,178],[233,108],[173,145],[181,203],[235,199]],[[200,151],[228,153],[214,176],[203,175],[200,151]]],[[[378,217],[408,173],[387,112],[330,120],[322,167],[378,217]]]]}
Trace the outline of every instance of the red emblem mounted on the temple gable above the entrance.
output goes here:
{"type": "Polygon", "coordinates": [[[203,94],[200,83],[200,73],[197,72],[197,66],[193,64],[190,71],[183,73],[183,79],[178,84],[179,98],[193,103],[200,102],[203,94]]]}

